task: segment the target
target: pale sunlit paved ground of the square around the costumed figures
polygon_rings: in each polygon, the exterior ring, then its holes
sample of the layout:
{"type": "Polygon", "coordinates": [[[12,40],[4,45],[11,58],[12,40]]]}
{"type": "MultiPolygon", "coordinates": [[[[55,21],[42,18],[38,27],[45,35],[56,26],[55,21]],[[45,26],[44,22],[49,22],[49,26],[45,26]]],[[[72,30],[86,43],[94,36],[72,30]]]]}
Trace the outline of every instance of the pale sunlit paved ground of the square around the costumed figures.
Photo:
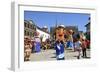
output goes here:
{"type": "MultiPolygon", "coordinates": [[[[89,59],[90,58],[90,50],[87,49],[87,58],[81,59],[89,59]]],[[[77,52],[73,50],[65,50],[65,60],[73,60],[77,59],[77,52]]],[[[31,61],[52,61],[56,60],[55,50],[41,50],[39,53],[32,53],[31,54],[31,61]]]]}

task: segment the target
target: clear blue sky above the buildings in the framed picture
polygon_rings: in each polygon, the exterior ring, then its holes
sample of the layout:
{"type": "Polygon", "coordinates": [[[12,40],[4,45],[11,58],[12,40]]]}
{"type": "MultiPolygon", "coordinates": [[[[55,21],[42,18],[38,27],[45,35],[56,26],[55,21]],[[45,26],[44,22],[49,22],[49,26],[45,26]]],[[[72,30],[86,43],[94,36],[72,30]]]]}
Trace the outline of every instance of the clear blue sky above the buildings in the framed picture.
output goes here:
{"type": "Polygon", "coordinates": [[[33,20],[39,27],[47,26],[49,29],[57,23],[65,26],[78,26],[80,31],[85,32],[84,26],[88,23],[89,17],[90,14],[84,13],[24,11],[25,20],[33,20]]]}

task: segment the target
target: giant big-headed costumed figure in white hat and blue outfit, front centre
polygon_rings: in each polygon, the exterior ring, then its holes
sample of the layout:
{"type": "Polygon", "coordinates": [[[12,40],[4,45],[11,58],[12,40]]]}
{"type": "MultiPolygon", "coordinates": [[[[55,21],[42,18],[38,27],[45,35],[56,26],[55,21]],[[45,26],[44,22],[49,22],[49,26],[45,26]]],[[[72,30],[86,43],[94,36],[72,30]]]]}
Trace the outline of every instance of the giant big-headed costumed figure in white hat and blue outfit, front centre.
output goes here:
{"type": "Polygon", "coordinates": [[[55,43],[55,50],[56,50],[56,59],[57,60],[64,60],[64,25],[59,25],[56,28],[56,43],[55,43]]]}

